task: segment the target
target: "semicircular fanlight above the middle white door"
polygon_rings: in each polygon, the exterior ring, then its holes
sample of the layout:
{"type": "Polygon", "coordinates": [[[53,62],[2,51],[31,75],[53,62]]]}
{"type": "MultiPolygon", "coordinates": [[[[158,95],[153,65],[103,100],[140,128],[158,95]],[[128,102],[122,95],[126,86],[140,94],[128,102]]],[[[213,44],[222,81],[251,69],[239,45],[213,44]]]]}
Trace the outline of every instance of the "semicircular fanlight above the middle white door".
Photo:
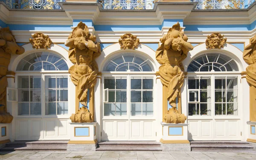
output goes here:
{"type": "Polygon", "coordinates": [[[116,56],[115,58],[109,59],[106,63],[103,71],[110,72],[148,72],[153,71],[149,64],[149,60],[141,58],[133,53],[124,53],[116,56]]]}

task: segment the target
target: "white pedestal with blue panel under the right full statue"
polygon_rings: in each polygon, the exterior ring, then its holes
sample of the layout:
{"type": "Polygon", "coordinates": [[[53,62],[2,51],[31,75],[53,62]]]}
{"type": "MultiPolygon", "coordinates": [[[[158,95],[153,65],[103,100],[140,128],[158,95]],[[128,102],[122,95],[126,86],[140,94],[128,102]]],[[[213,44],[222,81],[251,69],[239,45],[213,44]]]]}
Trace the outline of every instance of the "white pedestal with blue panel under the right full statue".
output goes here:
{"type": "Polygon", "coordinates": [[[191,151],[188,140],[188,124],[161,122],[163,136],[160,140],[163,151],[191,151]]]}

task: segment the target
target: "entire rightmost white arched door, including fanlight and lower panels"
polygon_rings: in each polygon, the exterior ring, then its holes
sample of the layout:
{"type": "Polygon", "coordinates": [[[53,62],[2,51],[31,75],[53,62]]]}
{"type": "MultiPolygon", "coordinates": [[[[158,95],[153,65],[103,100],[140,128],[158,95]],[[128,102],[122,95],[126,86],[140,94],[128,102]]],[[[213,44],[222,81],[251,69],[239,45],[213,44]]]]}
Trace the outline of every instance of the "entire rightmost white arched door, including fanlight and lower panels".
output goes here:
{"type": "Polygon", "coordinates": [[[189,65],[189,140],[241,140],[241,74],[233,61],[205,54],[189,65]]]}

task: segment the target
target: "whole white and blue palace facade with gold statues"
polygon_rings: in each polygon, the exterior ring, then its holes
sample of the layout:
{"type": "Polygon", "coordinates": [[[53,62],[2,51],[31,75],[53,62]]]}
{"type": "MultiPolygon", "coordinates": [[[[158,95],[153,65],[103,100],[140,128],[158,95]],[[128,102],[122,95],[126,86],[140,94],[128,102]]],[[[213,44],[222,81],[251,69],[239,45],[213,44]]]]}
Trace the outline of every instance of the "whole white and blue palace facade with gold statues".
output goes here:
{"type": "Polygon", "coordinates": [[[0,0],[0,28],[2,144],[256,143],[253,0],[0,0]]]}

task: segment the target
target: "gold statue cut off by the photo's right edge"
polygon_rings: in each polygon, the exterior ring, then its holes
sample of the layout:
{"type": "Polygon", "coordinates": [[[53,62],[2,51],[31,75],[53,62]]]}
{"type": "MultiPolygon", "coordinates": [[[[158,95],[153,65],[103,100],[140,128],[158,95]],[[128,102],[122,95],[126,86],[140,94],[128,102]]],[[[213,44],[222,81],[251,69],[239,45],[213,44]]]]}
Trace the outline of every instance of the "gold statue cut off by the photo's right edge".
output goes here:
{"type": "Polygon", "coordinates": [[[246,80],[250,85],[250,121],[256,122],[256,35],[244,48],[243,58],[249,65],[246,68],[246,80]]]}

